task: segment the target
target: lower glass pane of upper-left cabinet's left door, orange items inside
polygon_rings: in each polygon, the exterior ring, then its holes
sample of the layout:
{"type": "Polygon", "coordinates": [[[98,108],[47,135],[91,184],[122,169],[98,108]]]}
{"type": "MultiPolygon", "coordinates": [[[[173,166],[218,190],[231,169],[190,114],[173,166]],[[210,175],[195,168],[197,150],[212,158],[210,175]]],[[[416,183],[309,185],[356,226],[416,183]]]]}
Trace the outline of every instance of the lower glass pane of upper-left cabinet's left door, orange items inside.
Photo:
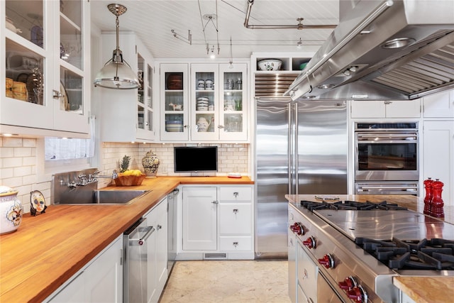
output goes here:
{"type": "Polygon", "coordinates": [[[6,97],[44,105],[44,58],[6,39],[6,97]]]}

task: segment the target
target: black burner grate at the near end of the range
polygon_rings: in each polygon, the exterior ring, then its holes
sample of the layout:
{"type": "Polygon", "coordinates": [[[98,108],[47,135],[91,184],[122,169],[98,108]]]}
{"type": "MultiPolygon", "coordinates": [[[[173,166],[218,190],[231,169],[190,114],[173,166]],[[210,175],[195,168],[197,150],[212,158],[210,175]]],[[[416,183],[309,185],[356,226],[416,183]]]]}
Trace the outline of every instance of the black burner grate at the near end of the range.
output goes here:
{"type": "Polygon", "coordinates": [[[356,238],[355,243],[394,270],[454,270],[454,241],[356,238]]]}

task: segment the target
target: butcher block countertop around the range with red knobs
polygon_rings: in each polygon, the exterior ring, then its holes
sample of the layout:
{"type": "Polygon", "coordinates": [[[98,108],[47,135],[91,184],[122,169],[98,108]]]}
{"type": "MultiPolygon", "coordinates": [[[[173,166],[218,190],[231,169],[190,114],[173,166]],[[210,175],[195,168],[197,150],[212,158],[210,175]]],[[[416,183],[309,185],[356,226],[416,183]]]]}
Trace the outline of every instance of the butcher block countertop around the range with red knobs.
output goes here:
{"type": "MultiPolygon", "coordinates": [[[[330,195],[333,196],[333,195],[330,195]]],[[[301,200],[317,201],[314,194],[287,194],[289,202],[299,203],[301,200]]],[[[413,211],[423,213],[423,199],[406,195],[362,195],[362,194],[339,194],[336,195],[342,201],[358,202],[382,202],[397,203],[413,211]]],[[[443,221],[454,224],[454,206],[444,207],[445,217],[443,221]]],[[[453,238],[450,235],[449,238],[453,238]]],[[[454,277],[394,277],[394,285],[418,303],[447,303],[454,302],[454,277]]]]}

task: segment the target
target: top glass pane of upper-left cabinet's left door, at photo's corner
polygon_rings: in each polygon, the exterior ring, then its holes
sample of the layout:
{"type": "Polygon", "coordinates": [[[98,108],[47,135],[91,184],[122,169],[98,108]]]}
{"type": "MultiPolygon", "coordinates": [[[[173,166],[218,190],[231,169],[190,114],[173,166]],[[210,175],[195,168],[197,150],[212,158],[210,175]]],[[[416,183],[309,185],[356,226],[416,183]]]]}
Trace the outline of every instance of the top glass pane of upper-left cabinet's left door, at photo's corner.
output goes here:
{"type": "Polygon", "coordinates": [[[4,1],[6,28],[44,48],[44,1],[4,1]]]}

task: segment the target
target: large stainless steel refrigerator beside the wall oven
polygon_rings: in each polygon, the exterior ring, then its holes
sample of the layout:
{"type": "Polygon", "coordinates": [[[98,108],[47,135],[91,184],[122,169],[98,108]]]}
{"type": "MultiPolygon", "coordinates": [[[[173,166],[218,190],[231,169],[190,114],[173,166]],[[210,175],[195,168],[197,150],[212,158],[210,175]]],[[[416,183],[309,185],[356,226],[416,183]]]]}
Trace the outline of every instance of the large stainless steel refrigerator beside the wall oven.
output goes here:
{"type": "Polygon", "coordinates": [[[285,194],[347,193],[343,101],[255,99],[255,258],[287,258],[285,194]]]}

